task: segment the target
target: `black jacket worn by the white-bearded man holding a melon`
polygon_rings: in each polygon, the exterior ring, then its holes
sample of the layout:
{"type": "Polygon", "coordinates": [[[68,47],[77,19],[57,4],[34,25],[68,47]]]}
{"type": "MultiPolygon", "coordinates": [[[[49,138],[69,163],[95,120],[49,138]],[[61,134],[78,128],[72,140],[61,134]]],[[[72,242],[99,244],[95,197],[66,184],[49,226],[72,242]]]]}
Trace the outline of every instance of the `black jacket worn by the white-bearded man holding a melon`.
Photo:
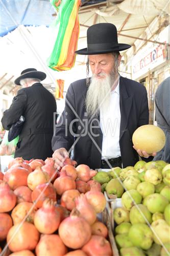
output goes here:
{"type": "MultiPolygon", "coordinates": [[[[137,127],[148,124],[149,109],[147,90],[142,84],[120,77],[119,89],[121,113],[119,145],[123,166],[126,167],[134,165],[139,160],[137,152],[133,149],[132,135],[137,127]]],[[[82,123],[87,124],[89,121],[88,117],[85,116],[86,93],[86,79],[70,84],[66,94],[65,109],[56,127],[56,135],[52,140],[52,148],[55,151],[60,147],[65,147],[70,152],[70,148],[75,142],[74,160],[78,164],[87,164],[91,168],[100,168],[102,131],[100,127],[93,127],[93,134],[90,133],[90,124],[87,125],[88,133],[84,134],[83,131],[82,123]],[[75,121],[72,121],[74,119],[75,121]],[[71,124],[75,134],[70,133],[69,124],[71,124]]],[[[93,125],[99,125],[99,120],[94,120],[93,125]]]]}

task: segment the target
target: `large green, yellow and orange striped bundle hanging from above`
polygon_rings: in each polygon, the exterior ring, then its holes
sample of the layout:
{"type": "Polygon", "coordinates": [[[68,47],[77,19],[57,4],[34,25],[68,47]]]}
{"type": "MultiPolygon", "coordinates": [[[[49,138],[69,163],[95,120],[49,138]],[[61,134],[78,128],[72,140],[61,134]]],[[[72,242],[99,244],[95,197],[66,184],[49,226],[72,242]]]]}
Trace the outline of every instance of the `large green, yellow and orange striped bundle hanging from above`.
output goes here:
{"type": "Polygon", "coordinates": [[[69,70],[75,65],[80,29],[78,10],[81,0],[51,0],[51,4],[58,10],[58,35],[47,66],[57,71],[69,70]]]}

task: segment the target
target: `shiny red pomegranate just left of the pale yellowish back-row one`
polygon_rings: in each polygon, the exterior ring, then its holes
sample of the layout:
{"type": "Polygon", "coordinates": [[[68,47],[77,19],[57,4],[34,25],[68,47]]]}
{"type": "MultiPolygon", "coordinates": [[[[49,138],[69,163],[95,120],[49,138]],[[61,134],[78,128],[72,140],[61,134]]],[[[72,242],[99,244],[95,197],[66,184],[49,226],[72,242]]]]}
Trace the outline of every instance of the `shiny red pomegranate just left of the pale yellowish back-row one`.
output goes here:
{"type": "Polygon", "coordinates": [[[23,167],[11,167],[4,174],[4,181],[14,190],[19,186],[27,186],[28,169],[23,167]]]}

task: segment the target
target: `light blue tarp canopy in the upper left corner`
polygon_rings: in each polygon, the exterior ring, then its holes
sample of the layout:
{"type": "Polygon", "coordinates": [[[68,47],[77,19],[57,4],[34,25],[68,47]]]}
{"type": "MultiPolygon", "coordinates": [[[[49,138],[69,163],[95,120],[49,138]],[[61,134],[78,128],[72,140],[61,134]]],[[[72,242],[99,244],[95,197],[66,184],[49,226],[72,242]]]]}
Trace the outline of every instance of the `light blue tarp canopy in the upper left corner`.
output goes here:
{"type": "MultiPolygon", "coordinates": [[[[75,1],[75,0],[72,0],[75,1]]],[[[106,0],[82,0],[83,6],[97,4],[106,0]]],[[[50,0],[2,0],[0,36],[13,31],[19,25],[49,26],[56,16],[50,0]]]]}

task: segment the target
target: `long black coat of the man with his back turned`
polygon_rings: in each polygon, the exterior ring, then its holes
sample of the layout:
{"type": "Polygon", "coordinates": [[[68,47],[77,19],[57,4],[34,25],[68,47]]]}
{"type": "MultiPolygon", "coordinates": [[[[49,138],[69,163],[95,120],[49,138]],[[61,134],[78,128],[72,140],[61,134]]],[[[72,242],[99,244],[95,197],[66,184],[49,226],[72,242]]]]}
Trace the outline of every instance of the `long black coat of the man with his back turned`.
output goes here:
{"type": "Polygon", "coordinates": [[[33,86],[18,91],[2,118],[4,129],[9,130],[21,115],[25,117],[15,158],[45,160],[47,157],[52,157],[51,140],[56,109],[54,96],[41,83],[34,83],[33,86]]]}

